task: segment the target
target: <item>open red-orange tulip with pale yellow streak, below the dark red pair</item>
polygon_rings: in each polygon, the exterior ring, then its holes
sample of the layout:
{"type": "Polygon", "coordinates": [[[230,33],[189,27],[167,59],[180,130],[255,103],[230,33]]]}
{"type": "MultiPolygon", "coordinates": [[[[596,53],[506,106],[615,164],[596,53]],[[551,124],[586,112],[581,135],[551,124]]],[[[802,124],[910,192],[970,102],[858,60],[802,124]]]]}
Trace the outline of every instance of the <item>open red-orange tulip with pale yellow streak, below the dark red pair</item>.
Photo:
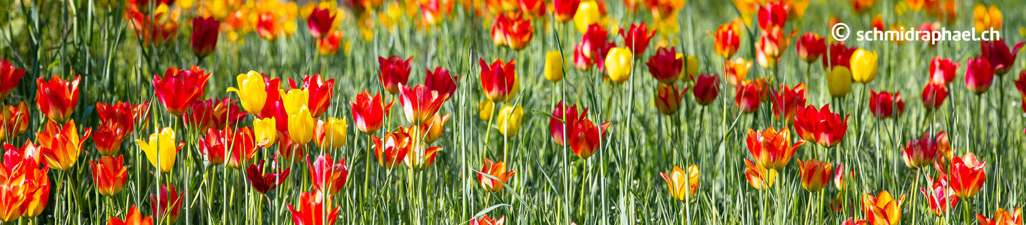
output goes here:
{"type": "Polygon", "coordinates": [[[442,103],[448,99],[448,94],[428,90],[427,86],[417,85],[412,89],[403,85],[399,89],[399,104],[402,105],[406,121],[412,124],[424,124],[438,112],[442,103]]]}

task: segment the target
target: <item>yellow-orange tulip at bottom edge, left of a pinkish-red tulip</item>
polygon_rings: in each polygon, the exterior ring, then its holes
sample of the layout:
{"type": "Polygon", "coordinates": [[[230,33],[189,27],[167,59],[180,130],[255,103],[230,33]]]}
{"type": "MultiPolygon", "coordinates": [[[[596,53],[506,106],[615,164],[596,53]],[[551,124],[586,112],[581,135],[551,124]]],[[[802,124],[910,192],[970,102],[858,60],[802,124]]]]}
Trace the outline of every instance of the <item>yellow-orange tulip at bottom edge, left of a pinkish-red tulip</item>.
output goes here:
{"type": "Polygon", "coordinates": [[[904,202],[905,194],[895,199],[886,190],[880,191],[876,196],[864,193],[862,194],[862,212],[866,214],[866,221],[871,224],[898,225],[901,223],[901,205],[904,202]]]}

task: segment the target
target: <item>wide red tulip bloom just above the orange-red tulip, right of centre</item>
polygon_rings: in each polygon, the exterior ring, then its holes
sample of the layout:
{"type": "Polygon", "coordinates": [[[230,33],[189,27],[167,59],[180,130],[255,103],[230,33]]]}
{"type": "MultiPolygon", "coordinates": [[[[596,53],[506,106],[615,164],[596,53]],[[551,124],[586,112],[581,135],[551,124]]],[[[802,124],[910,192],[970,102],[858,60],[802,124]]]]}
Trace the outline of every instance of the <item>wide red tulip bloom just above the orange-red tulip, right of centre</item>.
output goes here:
{"type": "Polygon", "coordinates": [[[847,131],[847,118],[830,111],[830,104],[819,110],[816,106],[799,106],[795,110],[794,131],[805,141],[816,141],[823,147],[833,147],[840,143],[847,131]]]}

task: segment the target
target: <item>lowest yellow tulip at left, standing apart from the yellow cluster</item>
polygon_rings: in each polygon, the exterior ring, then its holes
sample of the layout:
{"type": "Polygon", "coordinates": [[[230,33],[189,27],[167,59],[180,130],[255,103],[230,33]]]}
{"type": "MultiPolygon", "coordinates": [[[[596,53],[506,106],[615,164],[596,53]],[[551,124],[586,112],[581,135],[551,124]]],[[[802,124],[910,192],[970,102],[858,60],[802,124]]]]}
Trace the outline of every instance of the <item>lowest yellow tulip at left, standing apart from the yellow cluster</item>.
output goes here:
{"type": "Polygon", "coordinates": [[[150,164],[160,172],[170,172],[174,168],[174,158],[179,153],[179,142],[174,140],[174,130],[171,128],[160,129],[160,132],[150,135],[150,142],[135,139],[139,148],[146,152],[146,158],[150,164]]]}

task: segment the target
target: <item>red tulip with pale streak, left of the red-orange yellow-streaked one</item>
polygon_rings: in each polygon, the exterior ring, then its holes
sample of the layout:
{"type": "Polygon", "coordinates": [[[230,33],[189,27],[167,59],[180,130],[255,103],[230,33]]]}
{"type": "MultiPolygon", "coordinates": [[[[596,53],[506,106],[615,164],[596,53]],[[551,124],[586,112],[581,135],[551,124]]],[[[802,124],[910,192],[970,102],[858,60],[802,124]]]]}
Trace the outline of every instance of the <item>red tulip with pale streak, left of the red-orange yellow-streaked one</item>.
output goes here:
{"type": "Polygon", "coordinates": [[[356,95],[356,102],[349,102],[353,108],[353,122],[356,123],[356,129],[366,134],[378,132],[378,129],[382,127],[384,117],[388,116],[395,100],[388,104],[383,103],[381,94],[370,96],[370,92],[364,90],[356,95]]]}

